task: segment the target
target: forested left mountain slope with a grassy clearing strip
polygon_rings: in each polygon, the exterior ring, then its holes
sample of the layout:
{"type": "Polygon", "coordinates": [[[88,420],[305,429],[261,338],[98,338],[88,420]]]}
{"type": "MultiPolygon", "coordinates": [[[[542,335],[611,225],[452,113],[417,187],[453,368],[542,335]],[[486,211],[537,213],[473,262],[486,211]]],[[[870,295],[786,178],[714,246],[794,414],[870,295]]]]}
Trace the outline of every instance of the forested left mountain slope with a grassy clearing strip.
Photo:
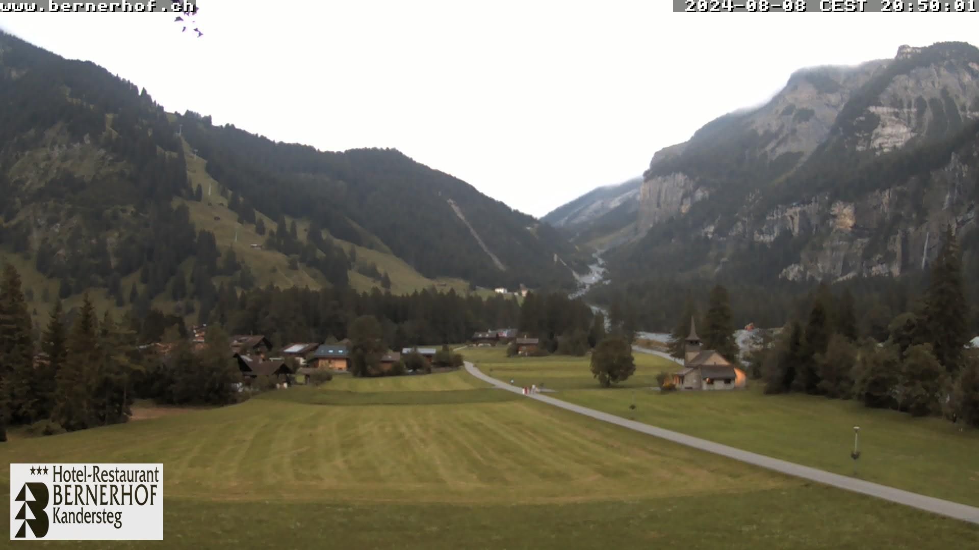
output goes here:
{"type": "Polygon", "coordinates": [[[555,230],[394,150],[319,152],[167,114],[3,33],[0,106],[0,253],[34,307],[88,291],[206,319],[222,286],[573,285],[555,230]]]}

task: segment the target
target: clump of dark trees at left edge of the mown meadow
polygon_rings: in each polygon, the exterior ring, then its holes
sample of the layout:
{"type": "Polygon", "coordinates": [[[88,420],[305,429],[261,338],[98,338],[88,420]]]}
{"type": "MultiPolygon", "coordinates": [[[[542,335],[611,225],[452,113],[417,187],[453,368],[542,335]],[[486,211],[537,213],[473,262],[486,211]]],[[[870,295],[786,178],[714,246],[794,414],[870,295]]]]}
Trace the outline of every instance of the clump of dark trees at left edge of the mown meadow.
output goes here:
{"type": "MultiPolygon", "coordinates": [[[[220,330],[203,351],[161,361],[138,344],[139,318],[130,311],[101,320],[88,296],[68,323],[61,300],[35,339],[21,277],[8,264],[0,281],[0,440],[9,423],[57,434],[126,422],[137,397],[169,403],[234,400],[240,380],[220,330]]],[[[182,339],[183,345],[188,345],[182,339]]]]}

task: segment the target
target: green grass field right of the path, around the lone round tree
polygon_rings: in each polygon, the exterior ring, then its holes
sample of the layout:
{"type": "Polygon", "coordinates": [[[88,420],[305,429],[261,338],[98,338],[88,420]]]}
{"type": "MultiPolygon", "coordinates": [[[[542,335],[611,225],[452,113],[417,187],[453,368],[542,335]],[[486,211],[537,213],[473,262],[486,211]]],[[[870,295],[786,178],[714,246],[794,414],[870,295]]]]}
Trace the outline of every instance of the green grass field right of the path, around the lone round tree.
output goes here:
{"type": "Polygon", "coordinates": [[[765,395],[761,385],[738,391],[660,393],[655,375],[675,370],[656,356],[635,354],[636,374],[623,388],[599,390],[588,360],[507,358],[502,349],[465,350],[468,360],[519,386],[544,382],[554,397],[821,470],[853,475],[853,427],[861,427],[859,477],[979,506],[979,431],[950,422],[868,409],[853,401],[809,395],[765,395]],[[630,409],[631,404],[635,409],[630,409]]]}

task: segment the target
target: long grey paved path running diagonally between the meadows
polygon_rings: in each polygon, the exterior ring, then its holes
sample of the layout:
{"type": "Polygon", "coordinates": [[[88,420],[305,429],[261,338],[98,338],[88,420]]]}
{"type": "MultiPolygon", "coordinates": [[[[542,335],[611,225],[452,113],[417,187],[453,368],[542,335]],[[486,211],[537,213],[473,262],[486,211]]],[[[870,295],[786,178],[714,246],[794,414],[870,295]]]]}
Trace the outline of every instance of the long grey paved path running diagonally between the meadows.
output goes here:
{"type": "MultiPolygon", "coordinates": [[[[466,370],[469,371],[469,374],[475,376],[480,380],[489,382],[489,384],[492,384],[496,388],[513,391],[515,393],[523,393],[523,390],[521,388],[517,388],[516,386],[510,386],[509,384],[500,382],[492,377],[483,374],[483,371],[476,368],[476,366],[470,363],[469,361],[466,361],[466,370]]],[[[683,434],[679,434],[678,432],[672,432],[670,430],[656,428],[655,426],[650,426],[648,424],[643,424],[641,422],[635,422],[633,420],[628,420],[612,414],[596,411],[594,409],[589,409],[581,405],[576,405],[574,403],[569,403],[567,401],[562,401],[560,399],[555,399],[553,397],[548,397],[546,395],[532,394],[532,395],[528,395],[528,397],[531,399],[536,399],[537,401],[542,401],[549,405],[554,405],[556,407],[561,407],[562,409],[583,414],[584,416],[589,416],[596,420],[601,420],[603,422],[608,422],[610,424],[622,426],[623,428],[629,428],[629,430],[634,430],[636,432],[641,432],[643,434],[654,435],[656,437],[668,439],[670,441],[674,441],[682,445],[687,445],[689,447],[693,447],[696,449],[712,452],[715,454],[720,454],[728,458],[733,458],[734,460],[740,460],[741,462],[746,462],[748,464],[753,464],[755,466],[761,466],[762,468],[766,468],[768,470],[774,470],[775,472],[787,474],[789,476],[795,476],[797,478],[803,478],[810,481],[816,481],[819,483],[832,485],[834,487],[839,487],[841,489],[868,494],[870,496],[876,496],[878,498],[890,500],[891,502],[906,504],[908,506],[912,506],[914,508],[918,508],[926,512],[932,512],[934,514],[949,516],[950,518],[955,518],[956,520],[962,520],[965,522],[971,522],[973,524],[979,525],[979,508],[976,508],[974,506],[967,506],[965,504],[959,504],[957,502],[951,502],[948,500],[942,500],[940,498],[925,496],[923,494],[917,494],[910,491],[890,487],[887,485],[881,485],[879,483],[858,480],[856,478],[850,478],[847,476],[840,476],[839,474],[832,474],[830,472],[816,470],[816,468],[810,468],[808,466],[802,466],[801,464],[795,464],[793,462],[788,462],[785,460],[779,460],[777,458],[771,458],[769,456],[748,452],[727,445],[722,445],[721,443],[708,441],[707,439],[694,437],[692,435],[683,435],[683,434]]]]}

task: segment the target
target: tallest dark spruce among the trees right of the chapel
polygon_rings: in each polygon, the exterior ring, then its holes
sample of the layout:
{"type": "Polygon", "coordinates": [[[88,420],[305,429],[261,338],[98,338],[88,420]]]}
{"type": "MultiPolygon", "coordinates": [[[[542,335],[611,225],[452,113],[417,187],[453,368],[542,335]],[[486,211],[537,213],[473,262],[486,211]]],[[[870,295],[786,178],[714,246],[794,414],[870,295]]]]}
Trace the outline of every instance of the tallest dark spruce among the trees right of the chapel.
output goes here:
{"type": "Polygon", "coordinates": [[[932,265],[925,298],[924,326],[932,352],[947,372],[955,374],[969,342],[968,305],[962,284],[962,264],[956,235],[947,226],[942,250],[932,265]]]}

